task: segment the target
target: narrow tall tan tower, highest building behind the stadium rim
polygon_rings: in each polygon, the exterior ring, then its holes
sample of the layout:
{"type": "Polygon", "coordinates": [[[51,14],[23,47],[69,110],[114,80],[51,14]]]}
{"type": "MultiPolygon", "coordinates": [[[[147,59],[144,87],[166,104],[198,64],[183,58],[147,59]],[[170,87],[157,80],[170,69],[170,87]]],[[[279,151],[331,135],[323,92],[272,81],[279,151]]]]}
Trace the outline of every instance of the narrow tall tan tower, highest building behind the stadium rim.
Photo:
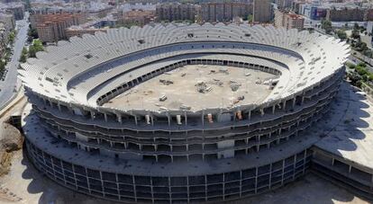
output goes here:
{"type": "Polygon", "coordinates": [[[253,22],[271,22],[272,4],[270,0],[254,0],[253,22]]]}

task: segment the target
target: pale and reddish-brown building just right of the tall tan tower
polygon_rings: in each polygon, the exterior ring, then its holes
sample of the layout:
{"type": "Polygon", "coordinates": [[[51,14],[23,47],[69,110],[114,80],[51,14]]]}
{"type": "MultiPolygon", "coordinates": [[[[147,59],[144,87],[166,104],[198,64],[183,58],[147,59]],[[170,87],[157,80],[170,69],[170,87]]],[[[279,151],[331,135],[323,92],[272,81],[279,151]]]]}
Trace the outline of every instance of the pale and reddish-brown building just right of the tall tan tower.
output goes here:
{"type": "Polygon", "coordinates": [[[305,27],[305,18],[299,14],[286,10],[275,10],[275,26],[287,29],[303,30],[305,27]]]}

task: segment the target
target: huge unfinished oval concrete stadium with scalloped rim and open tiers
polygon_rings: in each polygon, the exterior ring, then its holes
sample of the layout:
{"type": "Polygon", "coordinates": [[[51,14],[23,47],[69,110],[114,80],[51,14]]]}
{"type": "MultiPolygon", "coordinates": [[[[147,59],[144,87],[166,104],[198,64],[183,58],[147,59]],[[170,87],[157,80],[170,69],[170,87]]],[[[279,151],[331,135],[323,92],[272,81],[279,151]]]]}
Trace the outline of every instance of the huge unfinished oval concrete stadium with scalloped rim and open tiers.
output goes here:
{"type": "Polygon", "coordinates": [[[349,53],[318,33],[233,23],[59,41],[19,70],[32,103],[28,154],[50,179],[107,200],[215,202],[276,189],[309,169],[323,130],[309,128],[330,110],[349,53]]]}

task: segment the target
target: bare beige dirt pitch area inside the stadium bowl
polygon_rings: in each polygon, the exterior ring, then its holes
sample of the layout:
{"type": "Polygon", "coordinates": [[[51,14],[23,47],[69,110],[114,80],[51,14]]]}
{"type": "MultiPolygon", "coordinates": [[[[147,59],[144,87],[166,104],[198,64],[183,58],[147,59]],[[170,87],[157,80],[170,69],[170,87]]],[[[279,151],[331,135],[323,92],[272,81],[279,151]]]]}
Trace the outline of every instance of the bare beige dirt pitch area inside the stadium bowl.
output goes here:
{"type": "Polygon", "coordinates": [[[129,110],[179,110],[180,106],[187,106],[200,111],[259,103],[271,92],[264,82],[275,77],[247,68],[190,65],[138,84],[104,106],[129,110]],[[167,99],[159,101],[161,96],[167,99]]]}

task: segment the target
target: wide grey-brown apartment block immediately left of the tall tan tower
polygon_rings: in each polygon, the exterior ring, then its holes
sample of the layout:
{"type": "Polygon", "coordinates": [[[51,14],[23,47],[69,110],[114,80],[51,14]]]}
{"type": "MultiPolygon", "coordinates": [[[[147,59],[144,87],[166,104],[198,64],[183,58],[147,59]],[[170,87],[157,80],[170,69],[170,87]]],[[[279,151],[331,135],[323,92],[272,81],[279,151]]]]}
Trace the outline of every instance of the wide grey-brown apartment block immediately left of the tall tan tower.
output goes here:
{"type": "Polygon", "coordinates": [[[204,3],[201,4],[201,20],[203,22],[232,22],[234,17],[247,18],[252,13],[252,4],[204,3]]]}

